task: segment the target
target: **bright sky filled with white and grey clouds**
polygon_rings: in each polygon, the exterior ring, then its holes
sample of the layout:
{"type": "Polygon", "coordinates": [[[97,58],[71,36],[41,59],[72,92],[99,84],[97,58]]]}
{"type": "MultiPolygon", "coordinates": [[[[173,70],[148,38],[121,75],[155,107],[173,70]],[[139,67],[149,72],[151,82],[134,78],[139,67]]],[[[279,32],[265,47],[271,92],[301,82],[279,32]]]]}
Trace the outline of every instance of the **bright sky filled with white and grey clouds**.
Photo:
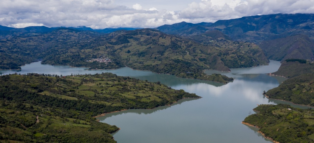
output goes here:
{"type": "Polygon", "coordinates": [[[0,0],[0,25],[154,28],[274,13],[314,13],[314,0],[0,0]]]}

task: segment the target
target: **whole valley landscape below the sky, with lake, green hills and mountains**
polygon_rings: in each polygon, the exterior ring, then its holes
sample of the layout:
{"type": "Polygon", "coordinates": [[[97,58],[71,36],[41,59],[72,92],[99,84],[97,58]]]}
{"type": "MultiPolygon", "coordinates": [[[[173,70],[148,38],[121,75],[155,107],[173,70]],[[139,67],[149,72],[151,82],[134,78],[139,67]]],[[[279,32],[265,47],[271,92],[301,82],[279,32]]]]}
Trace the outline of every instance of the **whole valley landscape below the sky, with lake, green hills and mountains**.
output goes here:
{"type": "Polygon", "coordinates": [[[313,21],[0,25],[0,141],[314,142],[313,21]]]}

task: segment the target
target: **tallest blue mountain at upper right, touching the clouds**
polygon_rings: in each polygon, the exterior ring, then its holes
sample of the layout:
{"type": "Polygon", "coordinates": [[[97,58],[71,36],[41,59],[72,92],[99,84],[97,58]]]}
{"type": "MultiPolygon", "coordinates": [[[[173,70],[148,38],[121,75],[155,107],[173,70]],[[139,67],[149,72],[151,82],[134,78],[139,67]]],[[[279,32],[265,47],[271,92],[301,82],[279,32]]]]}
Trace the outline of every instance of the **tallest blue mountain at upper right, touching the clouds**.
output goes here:
{"type": "Polygon", "coordinates": [[[309,32],[314,35],[314,14],[269,14],[218,20],[210,27],[234,40],[258,42],[309,32]]]}

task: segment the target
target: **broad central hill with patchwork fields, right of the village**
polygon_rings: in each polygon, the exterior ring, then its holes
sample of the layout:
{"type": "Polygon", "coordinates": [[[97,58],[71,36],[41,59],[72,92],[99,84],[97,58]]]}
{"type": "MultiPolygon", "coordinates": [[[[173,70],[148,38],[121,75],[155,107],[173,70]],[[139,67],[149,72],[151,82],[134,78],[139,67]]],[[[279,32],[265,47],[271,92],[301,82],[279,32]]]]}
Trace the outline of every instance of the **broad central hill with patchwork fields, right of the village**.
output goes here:
{"type": "Polygon", "coordinates": [[[101,38],[105,40],[104,46],[111,47],[108,50],[113,50],[127,66],[178,77],[202,79],[202,70],[208,68],[229,71],[224,62],[230,63],[230,67],[249,67],[268,62],[258,46],[248,47],[251,43],[231,45],[215,41],[219,44],[207,46],[154,29],[113,32],[101,38]]]}

